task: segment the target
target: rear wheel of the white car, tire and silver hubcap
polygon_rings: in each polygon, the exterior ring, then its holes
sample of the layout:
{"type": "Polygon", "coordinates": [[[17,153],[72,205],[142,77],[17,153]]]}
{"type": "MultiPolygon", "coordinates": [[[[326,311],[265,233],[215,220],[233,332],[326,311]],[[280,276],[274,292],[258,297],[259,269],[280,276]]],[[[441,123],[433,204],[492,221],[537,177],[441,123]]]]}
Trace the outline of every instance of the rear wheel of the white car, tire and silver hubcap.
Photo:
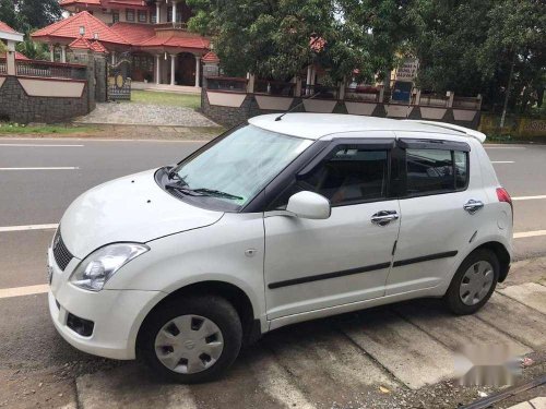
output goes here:
{"type": "Polygon", "coordinates": [[[499,272],[499,261],[491,251],[484,249],[468,254],[443,297],[448,309],[456,315],[474,314],[495,291],[499,272]]]}

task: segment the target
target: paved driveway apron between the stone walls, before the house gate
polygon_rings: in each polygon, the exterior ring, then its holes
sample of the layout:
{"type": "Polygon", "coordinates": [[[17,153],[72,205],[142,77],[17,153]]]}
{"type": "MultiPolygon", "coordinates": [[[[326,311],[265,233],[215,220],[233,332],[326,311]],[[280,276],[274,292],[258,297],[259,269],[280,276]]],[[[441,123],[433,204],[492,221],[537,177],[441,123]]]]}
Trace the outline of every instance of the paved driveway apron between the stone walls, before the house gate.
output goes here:
{"type": "Polygon", "coordinates": [[[217,127],[190,108],[136,103],[104,103],[76,123],[110,123],[161,127],[217,127]]]}

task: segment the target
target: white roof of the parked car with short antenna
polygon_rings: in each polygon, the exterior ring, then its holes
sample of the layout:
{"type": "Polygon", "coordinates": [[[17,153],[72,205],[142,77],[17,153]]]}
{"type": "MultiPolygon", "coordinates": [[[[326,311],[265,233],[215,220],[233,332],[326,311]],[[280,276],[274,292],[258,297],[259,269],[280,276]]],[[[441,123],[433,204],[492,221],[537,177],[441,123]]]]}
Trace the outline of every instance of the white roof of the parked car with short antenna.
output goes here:
{"type": "MultiPolygon", "coordinates": [[[[365,131],[406,131],[419,132],[419,137],[438,139],[443,134],[450,140],[474,137],[484,142],[486,136],[477,131],[443,122],[428,122],[414,120],[399,120],[377,117],[364,117],[345,113],[281,113],[262,115],[249,119],[249,123],[272,132],[282,133],[309,140],[319,140],[331,135],[344,137],[344,133],[355,133],[351,137],[366,137],[365,131]],[[435,135],[428,136],[427,133],[435,135]]],[[[377,137],[377,134],[373,135],[377,137]]]]}

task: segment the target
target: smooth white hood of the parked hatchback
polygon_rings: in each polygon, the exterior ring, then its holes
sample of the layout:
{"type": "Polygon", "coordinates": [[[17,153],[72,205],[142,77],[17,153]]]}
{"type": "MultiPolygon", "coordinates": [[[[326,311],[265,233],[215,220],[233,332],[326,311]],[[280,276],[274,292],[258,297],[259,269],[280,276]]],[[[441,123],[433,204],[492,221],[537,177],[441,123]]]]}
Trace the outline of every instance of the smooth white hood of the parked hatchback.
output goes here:
{"type": "Polygon", "coordinates": [[[61,236],[78,258],[114,242],[139,242],[218,221],[223,212],[189,205],[165,192],[155,170],[131,175],[83,193],[67,209],[61,236]]]}

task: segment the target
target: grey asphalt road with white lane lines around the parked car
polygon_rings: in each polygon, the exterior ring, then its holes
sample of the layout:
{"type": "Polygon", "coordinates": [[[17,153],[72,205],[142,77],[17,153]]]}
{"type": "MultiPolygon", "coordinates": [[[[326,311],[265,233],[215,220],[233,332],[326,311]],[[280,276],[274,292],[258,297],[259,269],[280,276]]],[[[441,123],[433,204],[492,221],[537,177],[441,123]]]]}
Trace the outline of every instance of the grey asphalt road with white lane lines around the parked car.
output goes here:
{"type": "MultiPolygon", "coordinates": [[[[0,294],[2,289],[46,284],[45,253],[54,233],[52,229],[5,230],[57,224],[68,205],[90,188],[174,164],[199,146],[193,142],[1,139],[0,294]]],[[[515,258],[545,255],[546,146],[488,146],[487,152],[514,197],[514,231],[536,234],[515,240],[515,258]]],[[[0,296],[0,383],[5,369],[47,371],[72,361],[79,362],[79,373],[116,366],[63,342],[45,304],[44,294],[0,296]]]]}

